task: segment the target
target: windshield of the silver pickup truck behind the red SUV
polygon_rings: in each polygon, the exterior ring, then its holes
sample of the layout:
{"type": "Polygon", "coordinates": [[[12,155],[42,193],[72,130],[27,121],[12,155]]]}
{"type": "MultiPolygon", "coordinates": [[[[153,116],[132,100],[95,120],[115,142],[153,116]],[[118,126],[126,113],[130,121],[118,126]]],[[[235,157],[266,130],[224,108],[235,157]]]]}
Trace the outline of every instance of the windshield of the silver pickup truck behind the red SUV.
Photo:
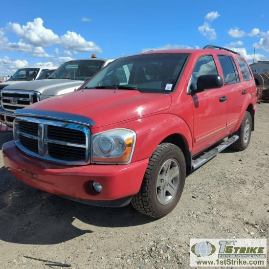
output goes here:
{"type": "Polygon", "coordinates": [[[58,67],[49,78],[85,80],[93,76],[104,65],[101,60],[74,60],[58,67]]]}

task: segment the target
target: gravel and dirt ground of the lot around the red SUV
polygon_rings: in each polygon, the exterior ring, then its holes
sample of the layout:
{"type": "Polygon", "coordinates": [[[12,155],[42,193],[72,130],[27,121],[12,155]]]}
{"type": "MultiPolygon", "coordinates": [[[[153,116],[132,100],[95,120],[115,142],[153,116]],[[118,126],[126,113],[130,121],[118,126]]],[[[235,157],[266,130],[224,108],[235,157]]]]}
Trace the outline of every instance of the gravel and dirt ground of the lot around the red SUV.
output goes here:
{"type": "MultiPolygon", "coordinates": [[[[268,238],[269,104],[257,106],[247,150],[225,150],[189,176],[160,220],[29,187],[7,173],[0,152],[0,268],[49,268],[30,256],[74,269],[183,269],[190,238],[268,238]]],[[[11,139],[0,133],[0,146],[11,139]]]]}

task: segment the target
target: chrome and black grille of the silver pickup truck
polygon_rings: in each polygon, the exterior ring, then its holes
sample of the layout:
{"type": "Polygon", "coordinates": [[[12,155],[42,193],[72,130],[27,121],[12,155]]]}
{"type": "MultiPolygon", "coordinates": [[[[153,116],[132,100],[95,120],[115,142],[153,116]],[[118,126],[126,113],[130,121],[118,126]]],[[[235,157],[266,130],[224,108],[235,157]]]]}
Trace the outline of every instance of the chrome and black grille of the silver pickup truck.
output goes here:
{"type": "Polygon", "coordinates": [[[1,90],[2,108],[14,112],[39,101],[39,92],[25,90],[1,90]]]}

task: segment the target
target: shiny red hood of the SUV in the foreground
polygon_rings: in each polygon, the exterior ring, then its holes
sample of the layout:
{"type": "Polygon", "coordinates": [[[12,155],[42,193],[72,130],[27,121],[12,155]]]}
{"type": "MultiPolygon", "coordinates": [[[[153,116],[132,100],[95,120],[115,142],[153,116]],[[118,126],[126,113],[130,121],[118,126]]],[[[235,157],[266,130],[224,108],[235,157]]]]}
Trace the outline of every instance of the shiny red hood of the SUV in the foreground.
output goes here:
{"type": "Polygon", "coordinates": [[[169,109],[171,95],[137,90],[77,90],[30,105],[29,109],[68,112],[91,118],[93,128],[169,109]]]}

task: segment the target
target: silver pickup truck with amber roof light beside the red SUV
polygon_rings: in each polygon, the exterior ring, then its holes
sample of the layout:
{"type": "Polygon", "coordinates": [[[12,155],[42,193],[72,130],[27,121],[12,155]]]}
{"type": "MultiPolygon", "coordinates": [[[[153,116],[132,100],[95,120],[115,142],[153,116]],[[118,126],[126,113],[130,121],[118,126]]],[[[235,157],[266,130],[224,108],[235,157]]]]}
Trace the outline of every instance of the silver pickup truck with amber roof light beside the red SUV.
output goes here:
{"type": "Polygon", "coordinates": [[[58,67],[48,79],[18,82],[3,88],[0,120],[12,127],[15,110],[78,89],[87,79],[114,60],[90,58],[68,61],[58,67]]]}

